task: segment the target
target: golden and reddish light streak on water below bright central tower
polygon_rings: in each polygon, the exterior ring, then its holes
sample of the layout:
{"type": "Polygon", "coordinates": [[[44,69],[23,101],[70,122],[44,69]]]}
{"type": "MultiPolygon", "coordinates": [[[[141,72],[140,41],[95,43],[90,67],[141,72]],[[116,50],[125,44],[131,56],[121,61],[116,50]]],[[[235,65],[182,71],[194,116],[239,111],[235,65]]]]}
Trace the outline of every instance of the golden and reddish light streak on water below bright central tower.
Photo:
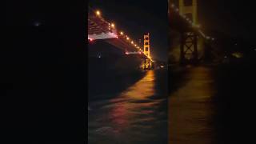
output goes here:
{"type": "MultiPolygon", "coordinates": [[[[110,119],[114,124],[114,130],[117,134],[121,134],[122,130],[132,125],[131,120],[138,117],[138,114],[150,114],[151,110],[143,110],[145,108],[152,108],[160,101],[151,101],[150,96],[155,94],[154,90],[154,71],[146,72],[144,78],[140,79],[133,86],[130,86],[117,98],[110,102],[114,103],[114,107],[110,111],[110,119]],[[144,101],[144,102],[142,102],[144,101]],[[138,110],[138,112],[134,112],[138,110]]],[[[151,121],[154,118],[141,118],[139,121],[151,121]]]]}

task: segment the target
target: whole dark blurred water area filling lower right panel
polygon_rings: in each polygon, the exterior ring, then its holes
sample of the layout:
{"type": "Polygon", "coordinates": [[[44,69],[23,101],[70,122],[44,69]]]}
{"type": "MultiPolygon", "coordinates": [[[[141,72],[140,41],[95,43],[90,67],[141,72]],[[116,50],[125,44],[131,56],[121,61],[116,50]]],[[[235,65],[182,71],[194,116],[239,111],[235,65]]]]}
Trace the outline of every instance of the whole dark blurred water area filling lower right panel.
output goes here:
{"type": "Polygon", "coordinates": [[[169,98],[169,143],[255,143],[253,67],[186,67],[169,98]]]}

